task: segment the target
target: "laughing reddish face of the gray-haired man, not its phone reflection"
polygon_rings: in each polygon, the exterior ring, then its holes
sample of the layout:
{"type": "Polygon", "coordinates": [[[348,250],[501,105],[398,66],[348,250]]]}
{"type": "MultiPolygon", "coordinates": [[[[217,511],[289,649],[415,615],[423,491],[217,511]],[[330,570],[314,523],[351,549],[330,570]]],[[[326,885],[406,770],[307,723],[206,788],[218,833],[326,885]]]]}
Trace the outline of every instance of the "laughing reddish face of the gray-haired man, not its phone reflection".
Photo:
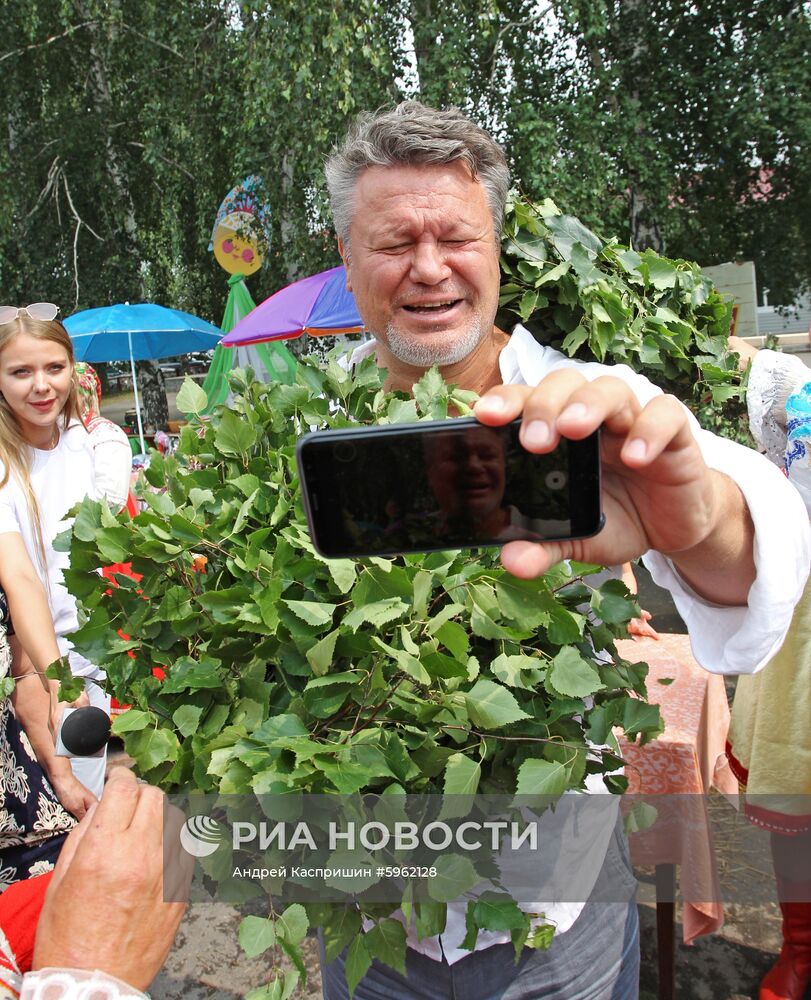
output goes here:
{"type": "Polygon", "coordinates": [[[498,247],[484,188],[461,161],[369,167],[349,242],[339,248],[358,311],[400,361],[455,364],[492,331],[498,247]]]}

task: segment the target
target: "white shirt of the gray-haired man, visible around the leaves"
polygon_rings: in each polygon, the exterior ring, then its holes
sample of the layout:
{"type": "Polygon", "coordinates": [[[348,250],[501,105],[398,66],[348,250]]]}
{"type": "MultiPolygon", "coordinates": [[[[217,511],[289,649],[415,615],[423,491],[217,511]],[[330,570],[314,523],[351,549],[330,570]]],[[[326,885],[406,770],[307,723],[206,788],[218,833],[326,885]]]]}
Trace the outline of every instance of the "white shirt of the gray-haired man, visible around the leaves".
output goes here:
{"type": "MultiPolygon", "coordinates": [[[[352,355],[352,362],[373,354],[374,340],[361,345],[352,355]]],[[[645,405],[662,390],[627,365],[603,365],[568,358],[551,347],[544,347],[522,326],[517,326],[499,356],[499,368],[504,384],[537,385],[551,372],[560,368],[577,368],[588,380],[604,375],[622,379],[645,405]]],[[[704,461],[711,469],[723,472],[740,488],[755,527],[755,566],[757,576],[749,591],[745,607],[722,607],[705,601],[679,576],[670,560],[658,552],[644,555],[645,565],[653,579],[666,587],[684,619],[696,660],[707,670],[721,674],[754,673],[764,667],[780,647],[791,622],[794,605],[800,599],[811,559],[811,533],[805,508],[794,488],[770,462],[761,455],[702,430],[691,416],[693,432],[704,461]]],[[[589,791],[604,791],[599,775],[589,791]]],[[[565,798],[565,797],[564,797],[565,798]]],[[[619,797],[615,797],[619,806],[619,797]]],[[[613,824],[607,810],[599,810],[603,822],[594,829],[578,829],[578,858],[567,859],[578,882],[591,888],[602,867],[611,839],[613,824]],[[584,874],[588,869],[588,874],[584,874]]],[[[616,813],[614,813],[616,815],[616,813]]],[[[541,843],[555,841],[556,849],[570,843],[567,835],[571,818],[567,810],[547,810],[541,821],[541,843]]],[[[583,893],[587,898],[590,889],[583,893]]],[[[565,933],[574,924],[585,903],[551,902],[521,904],[529,912],[540,912],[546,922],[553,923],[557,934],[565,933]]],[[[439,937],[418,941],[413,929],[408,932],[408,946],[430,958],[445,960],[453,965],[470,952],[460,948],[464,940],[464,901],[448,905],[445,931],[439,937]]],[[[506,944],[505,933],[482,931],[476,951],[494,944],[506,944]]]]}

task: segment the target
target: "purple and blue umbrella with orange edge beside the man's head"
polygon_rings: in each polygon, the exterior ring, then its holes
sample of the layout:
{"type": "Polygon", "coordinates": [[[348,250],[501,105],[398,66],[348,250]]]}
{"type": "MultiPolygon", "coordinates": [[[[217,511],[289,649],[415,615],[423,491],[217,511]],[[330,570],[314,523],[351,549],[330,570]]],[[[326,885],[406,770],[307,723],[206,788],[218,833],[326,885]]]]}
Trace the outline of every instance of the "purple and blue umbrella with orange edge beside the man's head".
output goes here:
{"type": "Polygon", "coordinates": [[[223,337],[225,347],[263,340],[291,340],[362,333],[355,298],[346,288],[343,267],[331,267],[280,289],[258,305],[223,337]]]}

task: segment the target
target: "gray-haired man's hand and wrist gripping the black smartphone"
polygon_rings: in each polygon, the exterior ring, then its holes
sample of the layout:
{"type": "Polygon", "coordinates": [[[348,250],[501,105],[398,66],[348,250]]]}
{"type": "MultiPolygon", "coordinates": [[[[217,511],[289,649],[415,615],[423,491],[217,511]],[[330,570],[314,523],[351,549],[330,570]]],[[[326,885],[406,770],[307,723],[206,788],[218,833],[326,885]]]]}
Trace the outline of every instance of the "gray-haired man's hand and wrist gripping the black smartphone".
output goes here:
{"type": "Polygon", "coordinates": [[[737,486],[705,464],[675,397],[643,407],[619,378],[588,382],[564,369],[535,388],[491,389],[475,414],[491,426],[522,416],[521,441],[537,453],[552,451],[561,436],[580,440],[603,427],[605,527],[577,541],[510,542],[501,554],[509,572],[534,577],[562,559],[615,566],[655,549],[709,600],[746,603],[755,575],[748,509],[737,486]]]}

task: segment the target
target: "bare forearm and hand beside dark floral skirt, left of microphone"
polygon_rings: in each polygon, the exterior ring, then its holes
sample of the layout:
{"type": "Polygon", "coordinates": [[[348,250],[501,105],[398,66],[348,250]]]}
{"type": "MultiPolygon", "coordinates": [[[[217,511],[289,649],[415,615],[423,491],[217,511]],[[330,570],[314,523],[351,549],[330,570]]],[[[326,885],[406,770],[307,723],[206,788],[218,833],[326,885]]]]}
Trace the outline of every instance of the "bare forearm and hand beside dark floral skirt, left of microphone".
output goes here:
{"type": "Polygon", "coordinates": [[[67,757],[57,757],[49,720],[51,692],[42,683],[42,676],[12,637],[14,660],[11,672],[17,683],[11,695],[14,714],[25,730],[43,771],[48,777],[56,797],[77,819],[81,819],[96,801],[95,795],[78,781],[67,757]]]}

